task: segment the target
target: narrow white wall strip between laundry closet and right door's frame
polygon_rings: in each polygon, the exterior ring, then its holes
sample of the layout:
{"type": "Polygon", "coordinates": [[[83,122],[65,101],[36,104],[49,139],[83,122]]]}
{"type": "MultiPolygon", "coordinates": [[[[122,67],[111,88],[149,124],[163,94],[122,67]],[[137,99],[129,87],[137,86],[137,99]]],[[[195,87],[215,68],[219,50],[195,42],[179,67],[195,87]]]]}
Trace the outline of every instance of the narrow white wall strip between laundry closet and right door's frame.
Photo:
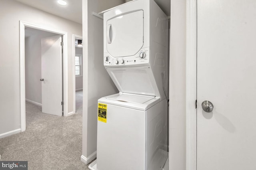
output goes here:
{"type": "Polygon", "coordinates": [[[171,0],[169,169],[186,170],[186,0],[171,0]]]}

